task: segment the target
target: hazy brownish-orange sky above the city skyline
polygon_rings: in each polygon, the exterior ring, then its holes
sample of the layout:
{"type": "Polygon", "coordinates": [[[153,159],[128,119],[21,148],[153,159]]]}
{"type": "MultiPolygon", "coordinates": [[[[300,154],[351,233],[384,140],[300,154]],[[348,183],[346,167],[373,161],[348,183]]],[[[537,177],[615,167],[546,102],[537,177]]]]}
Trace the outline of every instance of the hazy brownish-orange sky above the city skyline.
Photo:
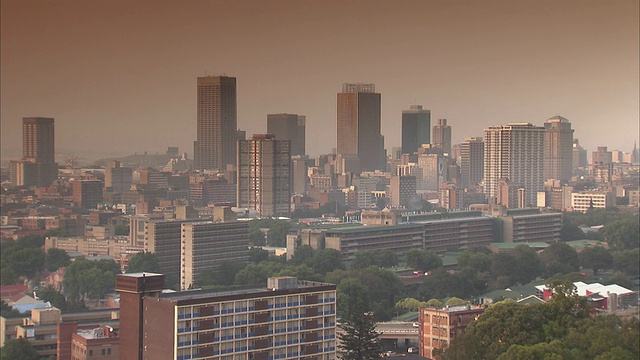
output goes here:
{"type": "Polygon", "coordinates": [[[2,156],[20,157],[22,117],[46,116],[59,155],[192,157],[205,73],[237,77],[248,135],[268,113],[306,115],[310,155],[336,146],[343,82],[376,84],[388,149],[421,104],[454,142],[562,115],[589,151],[630,151],[638,3],[2,0],[2,156]]]}

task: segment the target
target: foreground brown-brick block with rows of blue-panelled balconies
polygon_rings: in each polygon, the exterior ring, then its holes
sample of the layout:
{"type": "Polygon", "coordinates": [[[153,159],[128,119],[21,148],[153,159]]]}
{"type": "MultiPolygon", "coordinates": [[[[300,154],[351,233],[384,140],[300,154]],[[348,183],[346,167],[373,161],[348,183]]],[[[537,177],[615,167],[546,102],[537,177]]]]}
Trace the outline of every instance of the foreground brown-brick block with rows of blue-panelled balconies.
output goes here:
{"type": "Polygon", "coordinates": [[[333,284],[273,277],[239,289],[162,293],[162,281],[116,276],[121,359],[336,358],[333,284]]]}

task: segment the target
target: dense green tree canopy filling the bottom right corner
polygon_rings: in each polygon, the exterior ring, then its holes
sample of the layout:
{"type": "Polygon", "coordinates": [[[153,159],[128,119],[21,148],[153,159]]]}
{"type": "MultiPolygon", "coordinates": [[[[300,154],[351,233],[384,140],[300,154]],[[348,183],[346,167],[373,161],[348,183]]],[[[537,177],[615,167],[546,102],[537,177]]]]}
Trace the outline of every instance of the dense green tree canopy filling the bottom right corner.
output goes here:
{"type": "Polygon", "coordinates": [[[452,359],[637,359],[637,319],[589,315],[571,283],[550,285],[543,304],[503,301],[490,306],[442,354],[452,359]]]}

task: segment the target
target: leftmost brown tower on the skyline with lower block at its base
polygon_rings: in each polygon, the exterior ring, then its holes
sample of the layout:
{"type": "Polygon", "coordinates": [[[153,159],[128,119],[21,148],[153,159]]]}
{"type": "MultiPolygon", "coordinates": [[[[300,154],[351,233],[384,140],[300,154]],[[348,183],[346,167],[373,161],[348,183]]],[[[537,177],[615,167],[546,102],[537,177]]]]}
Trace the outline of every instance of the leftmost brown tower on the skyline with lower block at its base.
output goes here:
{"type": "Polygon", "coordinates": [[[49,186],[58,178],[53,118],[22,118],[22,160],[10,163],[15,186],[49,186]]]}

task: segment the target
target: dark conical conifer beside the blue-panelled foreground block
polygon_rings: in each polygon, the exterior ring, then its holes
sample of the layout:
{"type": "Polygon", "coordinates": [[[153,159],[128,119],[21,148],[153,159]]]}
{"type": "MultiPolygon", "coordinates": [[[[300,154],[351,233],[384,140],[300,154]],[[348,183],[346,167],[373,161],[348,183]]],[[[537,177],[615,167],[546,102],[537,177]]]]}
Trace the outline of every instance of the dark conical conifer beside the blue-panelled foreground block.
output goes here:
{"type": "Polygon", "coordinates": [[[380,345],[373,314],[359,302],[352,312],[346,314],[341,325],[344,333],[339,334],[340,359],[370,360],[380,358],[380,345]]]}

